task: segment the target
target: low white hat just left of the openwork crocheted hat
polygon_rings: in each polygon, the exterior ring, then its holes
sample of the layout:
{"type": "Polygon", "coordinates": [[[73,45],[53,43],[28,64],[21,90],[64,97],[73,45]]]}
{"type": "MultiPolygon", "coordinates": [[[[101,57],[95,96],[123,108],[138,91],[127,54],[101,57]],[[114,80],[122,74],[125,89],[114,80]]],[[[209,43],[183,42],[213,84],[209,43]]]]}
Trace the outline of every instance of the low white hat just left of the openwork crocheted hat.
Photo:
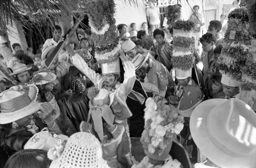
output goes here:
{"type": "Polygon", "coordinates": [[[48,151],[58,143],[58,138],[68,140],[66,135],[52,135],[48,131],[41,131],[34,134],[24,146],[24,149],[42,149],[48,151]]]}

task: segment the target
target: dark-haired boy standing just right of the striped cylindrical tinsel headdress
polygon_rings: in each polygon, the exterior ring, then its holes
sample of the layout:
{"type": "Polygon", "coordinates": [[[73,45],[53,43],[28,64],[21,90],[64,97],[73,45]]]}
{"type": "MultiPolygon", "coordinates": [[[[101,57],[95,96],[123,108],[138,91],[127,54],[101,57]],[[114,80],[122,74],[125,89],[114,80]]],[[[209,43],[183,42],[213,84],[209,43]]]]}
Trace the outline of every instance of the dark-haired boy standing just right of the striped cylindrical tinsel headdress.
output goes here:
{"type": "Polygon", "coordinates": [[[207,78],[207,72],[209,68],[209,62],[211,58],[214,56],[214,49],[216,43],[216,37],[214,34],[206,33],[200,38],[200,42],[203,45],[203,53],[202,53],[202,62],[203,62],[203,73],[204,73],[204,82],[207,78]]]}

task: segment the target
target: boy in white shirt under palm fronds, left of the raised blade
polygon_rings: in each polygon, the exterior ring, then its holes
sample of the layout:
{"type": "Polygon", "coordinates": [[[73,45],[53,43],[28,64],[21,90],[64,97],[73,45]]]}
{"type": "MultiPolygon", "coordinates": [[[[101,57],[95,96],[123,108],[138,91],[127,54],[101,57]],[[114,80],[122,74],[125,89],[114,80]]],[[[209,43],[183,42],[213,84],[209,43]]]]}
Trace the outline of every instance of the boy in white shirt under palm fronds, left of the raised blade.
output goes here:
{"type": "MultiPolygon", "coordinates": [[[[49,47],[49,46],[57,46],[60,36],[61,36],[61,27],[59,25],[55,25],[52,31],[53,38],[47,39],[45,44],[42,46],[42,48],[49,47]]],[[[43,49],[42,49],[43,50],[43,49]]]]}

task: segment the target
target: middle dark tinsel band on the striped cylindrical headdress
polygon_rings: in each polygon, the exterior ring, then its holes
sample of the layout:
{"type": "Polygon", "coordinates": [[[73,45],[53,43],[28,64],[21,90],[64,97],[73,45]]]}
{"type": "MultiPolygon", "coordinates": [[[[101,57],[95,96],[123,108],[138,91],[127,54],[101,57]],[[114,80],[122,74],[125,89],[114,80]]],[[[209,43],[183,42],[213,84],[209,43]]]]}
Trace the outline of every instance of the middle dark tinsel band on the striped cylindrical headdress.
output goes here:
{"type": "Polygon", "coordinates": [[[191,48],[195,45],[195,38],[186,38],[186,37],[175,37],[173,40],[173,48],[184,47],[191,48]]]}

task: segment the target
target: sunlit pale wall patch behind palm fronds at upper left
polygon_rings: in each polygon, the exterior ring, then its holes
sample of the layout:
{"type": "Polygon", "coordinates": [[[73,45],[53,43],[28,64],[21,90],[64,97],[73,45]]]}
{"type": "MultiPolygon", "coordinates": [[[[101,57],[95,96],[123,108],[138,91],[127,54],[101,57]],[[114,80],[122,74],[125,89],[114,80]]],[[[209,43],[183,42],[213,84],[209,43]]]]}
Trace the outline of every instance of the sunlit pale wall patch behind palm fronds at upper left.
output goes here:
{"type": "Polygon", "coordinates": [[[13,23],[12,26],[11,26],[11,24],[7,25],[8,30],[9,30],[8,36],[9,36],[11,45],[13,43],[18,43],[18,44],[20,44],[22,49],[26,52],[28,45],[27,45],[25,35],[23,33],[23,28],[18,22],[12,22],[12,23],[13,23]]]}

